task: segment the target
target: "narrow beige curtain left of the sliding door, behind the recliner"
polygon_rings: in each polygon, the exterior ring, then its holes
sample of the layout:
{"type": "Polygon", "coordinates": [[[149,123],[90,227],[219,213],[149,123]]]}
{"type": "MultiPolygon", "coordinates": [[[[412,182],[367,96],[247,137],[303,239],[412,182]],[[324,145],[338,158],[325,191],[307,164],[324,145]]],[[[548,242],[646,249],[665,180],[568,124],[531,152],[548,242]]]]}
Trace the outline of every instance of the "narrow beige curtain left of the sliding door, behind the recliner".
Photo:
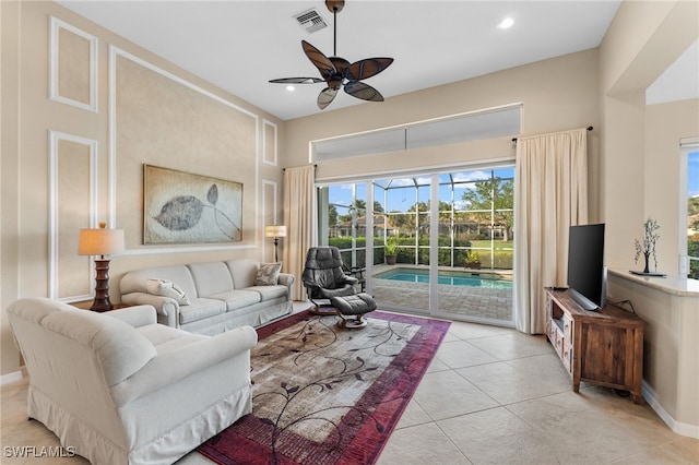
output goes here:
{"type": "Polygon", "coordinates": [[[284,170],[284,271],[296,276],[292,296],[306,298],[301,274],[309,247],[317,243],[316,167],[313,165],[284,170]]]}

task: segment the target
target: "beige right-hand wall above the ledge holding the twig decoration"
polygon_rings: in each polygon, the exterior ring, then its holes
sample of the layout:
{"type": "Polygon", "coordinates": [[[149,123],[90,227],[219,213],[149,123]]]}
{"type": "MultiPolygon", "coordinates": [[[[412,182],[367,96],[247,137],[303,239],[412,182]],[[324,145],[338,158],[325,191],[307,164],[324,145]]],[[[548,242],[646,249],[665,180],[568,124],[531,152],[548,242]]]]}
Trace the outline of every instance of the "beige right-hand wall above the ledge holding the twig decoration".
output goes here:
{"type": "Polygon", "coordinates": [[[633,265],[633,238],[651,216],[661,226],[659,266],[678,271],[679,138],[699,135],[699,100],[647,109],[645,88],[699,36],[698,9],[694,1],[625,1],[600,47],[601,211],[611,267],[633,265]]]}

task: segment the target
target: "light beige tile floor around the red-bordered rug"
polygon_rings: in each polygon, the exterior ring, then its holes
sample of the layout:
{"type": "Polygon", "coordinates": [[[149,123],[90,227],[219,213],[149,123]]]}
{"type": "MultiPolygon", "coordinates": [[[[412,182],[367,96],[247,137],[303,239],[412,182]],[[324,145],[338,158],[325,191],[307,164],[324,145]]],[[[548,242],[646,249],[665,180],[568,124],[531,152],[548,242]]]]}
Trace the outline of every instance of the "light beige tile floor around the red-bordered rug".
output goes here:
{"type": "MultiPolygon", "coordinates": [[[[7,446],[59,445],[27,421],[26,389],[25,379],[0,390],[0,463],[86,463],[7,455],[7,446]]],[[[178,462],[208,463],[196,452],[178,462]]],[[[454,322],[378,465],[496,463],[699,464],[699,440],[608,389],[583,384],[574,394],[543,336],[454,322]]]]}

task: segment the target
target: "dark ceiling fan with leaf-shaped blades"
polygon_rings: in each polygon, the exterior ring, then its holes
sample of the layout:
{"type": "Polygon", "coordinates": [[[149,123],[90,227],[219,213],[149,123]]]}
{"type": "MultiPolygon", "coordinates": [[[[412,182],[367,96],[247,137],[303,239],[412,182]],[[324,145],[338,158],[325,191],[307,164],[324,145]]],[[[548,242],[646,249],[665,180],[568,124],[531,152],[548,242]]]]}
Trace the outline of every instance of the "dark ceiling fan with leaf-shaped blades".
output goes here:
{"type": "Polygon", "coordinates": [[[340,87],[345,93],[363,100],[383,102],[383,96],[379,91],[360,81],[371,78],[384,69],[392,62],[392,58],[366,58],[364,60],[350,61],[337,57],[337,13],[345,5],[344,0],[325,0],[325,7],[333,14],[333,56],[325,57],[319,49],[301,40],[304,52],[322,78],[282,78],[271,80],[275,84],[317,84],[324,82],[328,87],[322,90],[318,95],[318,108],[321,110],[332,103],[337,95],[340,87]]]}

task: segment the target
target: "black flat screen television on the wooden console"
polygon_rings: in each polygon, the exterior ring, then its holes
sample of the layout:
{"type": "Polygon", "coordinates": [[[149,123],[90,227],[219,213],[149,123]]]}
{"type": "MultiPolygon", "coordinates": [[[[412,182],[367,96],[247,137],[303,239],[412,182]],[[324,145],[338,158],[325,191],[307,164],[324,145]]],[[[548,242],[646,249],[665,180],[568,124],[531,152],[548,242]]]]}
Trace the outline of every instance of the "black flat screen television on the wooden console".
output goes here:
{"type": "Polygon", "coordinates": [[[571,226],[568,236],[568,288],[583,309],[597,311],[606,295],[604,223],[571,226]]]}

